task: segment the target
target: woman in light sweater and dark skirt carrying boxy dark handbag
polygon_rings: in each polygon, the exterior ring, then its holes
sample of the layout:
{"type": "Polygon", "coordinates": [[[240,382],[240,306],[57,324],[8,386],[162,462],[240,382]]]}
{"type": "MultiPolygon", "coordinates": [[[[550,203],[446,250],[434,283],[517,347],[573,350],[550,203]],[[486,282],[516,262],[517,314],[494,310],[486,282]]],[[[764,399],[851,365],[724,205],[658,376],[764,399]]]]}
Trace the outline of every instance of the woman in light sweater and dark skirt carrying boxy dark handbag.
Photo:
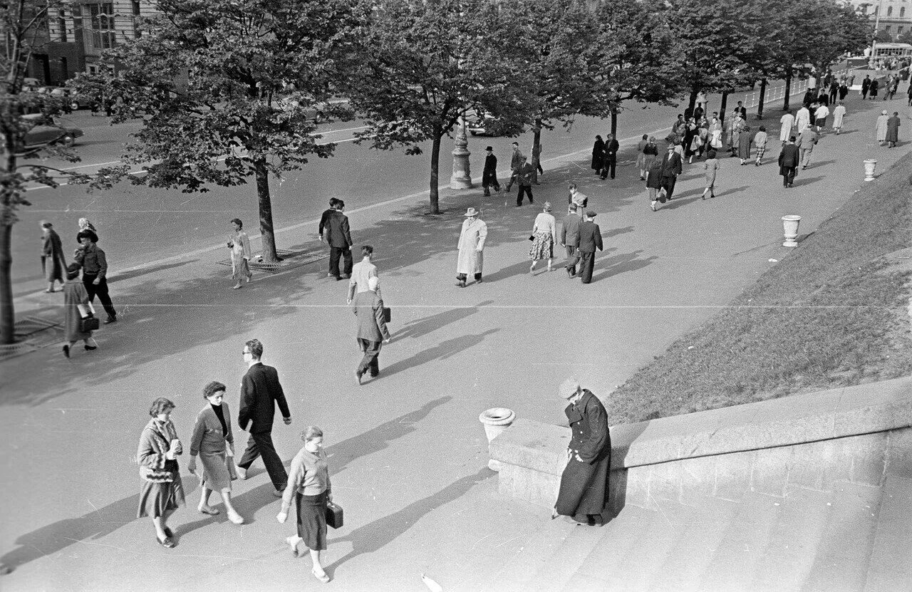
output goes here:
{"type": "Polygon", "coordinates": [[[297,509],[297,535],[288,536],[285,542],[291,547],[292,555],[298,556],[297,544],[304,542],[314,562],[312,573],[324,584],[329,576],[320,565],[320,551],[326,550],[326,506],[333,501],[332,483],[326,466],[326,452],[323,451],[323,431],[316,426],[307,426],[301,432],[304,448],[297,454],[288,469],[288,484],[282,494],[282,510],[275,516],[279,524],[285,524],[292,497],[297,509]]]}

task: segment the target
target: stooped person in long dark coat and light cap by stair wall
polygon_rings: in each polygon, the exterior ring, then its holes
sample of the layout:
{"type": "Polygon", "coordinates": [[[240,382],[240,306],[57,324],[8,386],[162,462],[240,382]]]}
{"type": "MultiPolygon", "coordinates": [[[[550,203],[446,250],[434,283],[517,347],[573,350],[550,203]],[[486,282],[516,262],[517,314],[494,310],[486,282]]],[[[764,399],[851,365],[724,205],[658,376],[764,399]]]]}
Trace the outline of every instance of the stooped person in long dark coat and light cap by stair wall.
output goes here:
{"type": "Polygon", "coordinates": [[[564,413],[571,436],[551,517],[560,515],[570,523],[600,526],[608,499],[611,465],[608,414],[602,401],[575,378],[561,383],[558,394],[569,403],[564,413]]]}

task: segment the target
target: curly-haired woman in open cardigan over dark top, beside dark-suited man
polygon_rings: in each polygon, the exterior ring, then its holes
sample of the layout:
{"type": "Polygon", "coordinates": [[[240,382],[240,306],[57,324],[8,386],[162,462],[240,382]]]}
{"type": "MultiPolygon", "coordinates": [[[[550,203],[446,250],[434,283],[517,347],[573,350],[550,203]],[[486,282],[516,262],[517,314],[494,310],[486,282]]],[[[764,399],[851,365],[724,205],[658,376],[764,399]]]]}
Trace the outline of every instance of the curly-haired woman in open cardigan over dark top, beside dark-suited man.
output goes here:
{"type": "Polygon", "coordinates": [[[202,497],[197,510],[201,514],[218,515],[219,511],[209,505],[213,491],[222,496],[228,520],[233,524],[244,524],[231,503],[231,482],[237,479],[234,471],[234,437],[231,431],[231,412],[228,403],[223,402],[225,385],[212,381],[202,389],[202,398],[209,404],[202,408],[193,424],[190,439],[190,462],[187,470],[196,474],[196,457],[202,464],[200,490],[202,497]]]}

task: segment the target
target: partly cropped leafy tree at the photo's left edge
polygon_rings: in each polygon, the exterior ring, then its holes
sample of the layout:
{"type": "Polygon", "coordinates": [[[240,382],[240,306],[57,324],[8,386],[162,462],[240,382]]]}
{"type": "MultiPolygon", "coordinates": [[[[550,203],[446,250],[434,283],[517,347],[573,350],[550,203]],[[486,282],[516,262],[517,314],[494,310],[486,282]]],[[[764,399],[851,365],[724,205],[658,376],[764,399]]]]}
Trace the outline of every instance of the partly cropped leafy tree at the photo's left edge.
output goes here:
{"type": "MultiPolygon", "coordinates": [[[[0,139],[3,143],[3,164],[0,165],[0,343],[14,342],[16,320],[13,305],[13,226],[16,212],[31,205],[26,198],[26,186],[43,184],[56,188],[60,182],[82,183],[89,188],[108,187],[119,175],[114,169],[103,169],[87,175],[57,169],[47,164],[48,157],[76,162],[79,157],[71,147],[65,128],[53,117],[59,113],[62,101],[38,95],[25,87],[28,64],[36,52],[49,42],[47,21],[50,15],[67,9],[68,2],[6,2],[0,14],[0,30],[5,34],[6,51],[0,57],[0,139]],[[35,113],[36,117],[23,117],[35,113]],[[27,136],[36,126],[51,131],[51,143],[33,144],[27,136]],[[57,133],[53,133],[54,129],[57,133]],[[49,129],[49,130],[48,130],[49,129]]],[[[36,130],[37,131],[37,130],[36,130]]]]}

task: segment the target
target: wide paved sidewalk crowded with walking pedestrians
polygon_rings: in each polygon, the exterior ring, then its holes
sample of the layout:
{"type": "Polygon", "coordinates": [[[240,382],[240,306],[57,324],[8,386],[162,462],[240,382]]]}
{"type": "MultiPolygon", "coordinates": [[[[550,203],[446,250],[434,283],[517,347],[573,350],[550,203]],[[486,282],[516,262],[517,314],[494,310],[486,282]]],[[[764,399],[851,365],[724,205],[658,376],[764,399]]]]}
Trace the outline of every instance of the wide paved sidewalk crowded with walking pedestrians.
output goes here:
{"type": "MultiPolygon", "coordinates": [[[[236,413],[239,347],[256,337],[293,412],[292,426],[275,427],[280,454],[293,456],[308,423],[326,431],[335,497],[347,513],[346,526],[329,534],[329,587],[423,590],[421,573],[448,591],[482,587],[534,540],[546,513],[498,498],[479,412],[504,406],[562,422],[553,393],[571,373],[610,412],[615,385],[725,306],[775,265],[770,259],[788,255],[782,215],[802,215],[801,233],[812,232],[861,185],[865,158],[875,156],[883,171],[909,151],[907,142],[888,150],[873,141],[884,105],[850,100],[846,131],[821,140],[793,190],[782,190],[771,145],[762,167],[723,158],[715,200],[700,201],[702,168],[686,165],[676,199],[658,213],[632,166],[603,182],[583,156],[546,163],[535,206],[516,208],[513,195],[482,198],[478,189],[443,192],[444,213],[435,216],[424,214],[423,196],[352,214],[356,243],[375,246],[394,319],[381,375],[361,387],[352,376],[359,354],[346,286],[326,279],[325,261],[258,275],[241,290],[229,289],[226,268],[214,265],[220,251],[115,275],[122,322],[98,332],[98,351],[77,348],[67,360],[55,347],[0,362],[0,560],[15,567],[0,586],[321,588],[309,559],[293,559],[284,546],[292,527],[274,522],[278,504],[262,465],[235,483],[248,519],[241,527],[197,514],[197,483],[185,471],[188,506],[171,521],[175,549],[156,545],[150,521],[134,517],[140,482],[132,458],[150,400],[177,402],[184,439],[207,381],[229,385],[236,413]],[[538,206],[550,199],[559,219],[569,180],[589,196],[606,244],[590,286],[541,265],[527,273],[538,206]],[[485,281],[458,289],[455,245],[469,206],[481,207],[489,227],[485,281]]],[[[886,105],[900,110],[898,99],[886,105]]],[[[767,120],[777,137],[778,121],[767,120]]],[[[631,159],[627,147],[619,160],[631,159]]],[[[295,231],[292,249],[315,244],[313,226],[295,231]]],[[[56,317],[59,302],[30,295],[16,305],[56,317]]]]}

